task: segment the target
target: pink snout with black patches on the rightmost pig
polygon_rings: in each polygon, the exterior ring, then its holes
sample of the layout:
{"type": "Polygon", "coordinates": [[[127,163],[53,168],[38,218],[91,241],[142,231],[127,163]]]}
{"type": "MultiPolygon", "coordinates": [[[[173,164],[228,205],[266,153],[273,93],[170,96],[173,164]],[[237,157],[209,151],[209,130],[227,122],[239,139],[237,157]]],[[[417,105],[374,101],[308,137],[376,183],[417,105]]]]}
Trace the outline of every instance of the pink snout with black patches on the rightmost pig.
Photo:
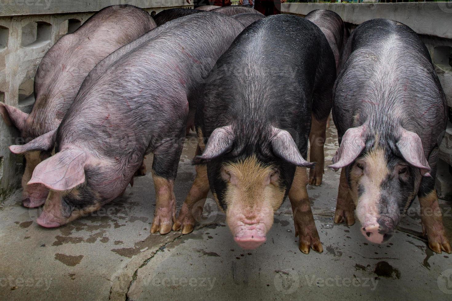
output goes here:
{"type": "Polygon", "coordinates": [[[381,216],[378,219],[373,218],[370,223],[363,224],[361,232],[368,241],[381,244],[389,241],[394,228],[395,222],[392,218],[381,216]]]}

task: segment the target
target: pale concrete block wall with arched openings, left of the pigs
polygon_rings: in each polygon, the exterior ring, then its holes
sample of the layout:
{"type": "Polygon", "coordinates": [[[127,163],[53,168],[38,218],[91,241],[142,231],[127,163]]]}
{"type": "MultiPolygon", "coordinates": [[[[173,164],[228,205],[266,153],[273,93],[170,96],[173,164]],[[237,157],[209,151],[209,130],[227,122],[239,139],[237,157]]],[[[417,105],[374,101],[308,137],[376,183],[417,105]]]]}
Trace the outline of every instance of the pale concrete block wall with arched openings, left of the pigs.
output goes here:
{"type": "MultiPolygon", "coordinates": [[[[163,9],[193,8],[185,0],[16,0],[0,3],[0,101],[29,113],[33,78],[47,50],[109,5],[130,4],[154,15],[163,9]]],[[[0,203],[20,185],[23,157],[8,146],[20,143],[19,132],[0,118],[0,203]]]]}

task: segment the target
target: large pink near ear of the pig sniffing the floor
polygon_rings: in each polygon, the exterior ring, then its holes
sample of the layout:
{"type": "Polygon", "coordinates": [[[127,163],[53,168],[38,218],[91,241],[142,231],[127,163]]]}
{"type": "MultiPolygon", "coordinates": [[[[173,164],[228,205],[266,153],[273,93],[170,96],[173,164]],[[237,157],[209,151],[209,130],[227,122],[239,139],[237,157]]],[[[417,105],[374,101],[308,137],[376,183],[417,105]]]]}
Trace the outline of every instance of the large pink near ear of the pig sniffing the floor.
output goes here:
{"type": "Polygon", "coordinates": [[[39,183],[52,190],[69,190],[85,182],[88,153],[73,149],[56,153],[42,161],[27,184],[39,183]]]}

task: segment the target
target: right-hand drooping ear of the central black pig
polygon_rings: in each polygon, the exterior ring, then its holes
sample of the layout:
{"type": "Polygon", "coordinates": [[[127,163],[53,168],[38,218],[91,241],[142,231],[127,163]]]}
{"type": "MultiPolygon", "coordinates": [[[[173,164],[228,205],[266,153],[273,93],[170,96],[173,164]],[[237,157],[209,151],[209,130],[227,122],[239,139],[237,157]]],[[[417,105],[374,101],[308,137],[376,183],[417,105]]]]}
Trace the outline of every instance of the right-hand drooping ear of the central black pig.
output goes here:
{"type": "Polygon", "coordinates": [[[296,166],[314,167],[315,163],[308,162],[301,156],[297,144],[293,141],[292,135],[286,130],[273,127],[273,138],[271,142],[273,152],[282,160],[296,166]]]}

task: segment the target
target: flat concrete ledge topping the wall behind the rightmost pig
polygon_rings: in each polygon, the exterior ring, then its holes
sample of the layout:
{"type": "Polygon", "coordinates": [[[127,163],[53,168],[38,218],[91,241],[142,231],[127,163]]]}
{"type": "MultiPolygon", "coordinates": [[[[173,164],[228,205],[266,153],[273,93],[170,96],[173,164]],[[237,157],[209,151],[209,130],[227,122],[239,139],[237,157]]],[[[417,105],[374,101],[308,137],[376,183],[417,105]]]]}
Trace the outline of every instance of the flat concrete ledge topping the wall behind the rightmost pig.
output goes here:
{"type": "Polygon", "coordinates": [[[370,19],[397,20],[415,32],[452,39],[452,3],[283,3],[281,11],[306,15],[314,9],[330,9],[345,22],[361,24],[370,19]]]}

